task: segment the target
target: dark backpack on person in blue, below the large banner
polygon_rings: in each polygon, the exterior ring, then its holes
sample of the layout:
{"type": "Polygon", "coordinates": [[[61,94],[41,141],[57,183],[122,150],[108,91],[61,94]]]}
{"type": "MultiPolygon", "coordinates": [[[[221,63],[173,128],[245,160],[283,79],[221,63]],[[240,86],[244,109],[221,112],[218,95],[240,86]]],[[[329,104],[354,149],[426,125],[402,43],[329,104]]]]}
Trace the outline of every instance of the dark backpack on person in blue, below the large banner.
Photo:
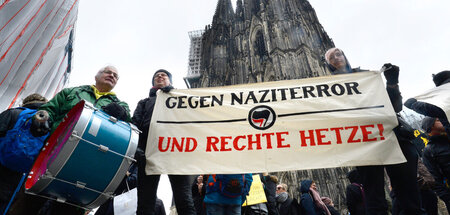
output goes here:
{"type": "Polygon", "coordinates": [[[228,198],[241,197],[245,193],[245,175],[211,175],[213,184],[209,184],[211,191],[217,191],[228,198]]]}

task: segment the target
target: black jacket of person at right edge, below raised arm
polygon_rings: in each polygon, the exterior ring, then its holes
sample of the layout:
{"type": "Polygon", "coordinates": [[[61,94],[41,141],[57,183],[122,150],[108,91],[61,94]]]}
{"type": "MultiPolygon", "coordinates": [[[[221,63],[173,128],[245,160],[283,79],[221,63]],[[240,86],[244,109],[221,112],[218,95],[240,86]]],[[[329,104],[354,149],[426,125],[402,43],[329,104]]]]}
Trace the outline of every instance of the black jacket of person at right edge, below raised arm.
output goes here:
{"type": "Polygon", "coordinates": [[[445,202],[450,202],[450,142],[447,136],[431,136],[423,151],[423,163],[435,180],[434,191],[445,202]]]}

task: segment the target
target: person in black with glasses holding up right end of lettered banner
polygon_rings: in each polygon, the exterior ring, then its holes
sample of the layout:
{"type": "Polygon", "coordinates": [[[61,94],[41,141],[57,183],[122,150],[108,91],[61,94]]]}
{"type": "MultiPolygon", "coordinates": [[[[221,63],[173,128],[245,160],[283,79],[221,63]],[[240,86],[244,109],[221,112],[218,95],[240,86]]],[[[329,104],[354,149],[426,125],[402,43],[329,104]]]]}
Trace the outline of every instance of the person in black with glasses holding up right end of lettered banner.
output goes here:
{"type": "MultiPolygon", "coordinates": [[[[344,53],[337,48],[328,50],[325,53],[325,60],[330,68],[336,68],[337,71],[350,67],[344,53]],[[333,57],[339,58],[340,60],[333,60],[333,57]]],[[[352,70],[352,72],[358,72],[358,70],[352,70]]],[[[399,113],[403,108],[402,96],[398,86],[399,71],[398,66],[390,63],[386,63],[382,67],[382,72],[386,78],[386,90],[396,113],[399,113]]],[[[341,74],[333,71],[331,73],[341,74]]],[[[368,215],[388,214],[388,206],[384,192],[384,168],[386,168],[391,180],[392,191],[395,196],[393,204],[399,204],[399,214],[425,214],[420,204],[420,193],[416,180],[417,160],[419,156],[415,146],[411,143],[414,139],[414,131],[398,114],[397,120],[399,126],[394,129],[394,133],[407,162],[386,166],[357,167],[361,175],[362,184],[364,185],[366,214],[368,215]]]]}

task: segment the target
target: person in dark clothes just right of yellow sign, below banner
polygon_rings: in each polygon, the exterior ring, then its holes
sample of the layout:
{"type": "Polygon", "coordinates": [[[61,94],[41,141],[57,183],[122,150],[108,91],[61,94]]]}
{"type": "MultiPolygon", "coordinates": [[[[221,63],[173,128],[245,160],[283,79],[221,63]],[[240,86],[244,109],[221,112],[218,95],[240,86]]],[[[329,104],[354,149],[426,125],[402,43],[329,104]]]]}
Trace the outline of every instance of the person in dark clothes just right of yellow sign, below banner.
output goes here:
{"type": "Polygon", "coordinates": [[[277,185],[276,194],[277,208],[280,215],[297,215],[299,214],[299,205],[297,199],[289,197],[286,184],[277,185]]]}

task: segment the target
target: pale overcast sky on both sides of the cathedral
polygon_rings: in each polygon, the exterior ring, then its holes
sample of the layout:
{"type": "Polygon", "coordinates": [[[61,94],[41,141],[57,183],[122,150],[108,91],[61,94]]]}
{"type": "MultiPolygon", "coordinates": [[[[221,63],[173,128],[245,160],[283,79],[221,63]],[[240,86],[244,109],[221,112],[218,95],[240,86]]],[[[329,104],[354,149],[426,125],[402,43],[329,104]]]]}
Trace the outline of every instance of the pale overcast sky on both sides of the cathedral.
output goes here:
{"type": "MultiPolygon", "coordinates": [[[[378,70],[386,62],[400,66],[405,100],[432,88],[432,73],[450,69],[448,0],[310,3],[353,67],[378,70]]],[[[157,69],[172,72],[175,87],[186,88],[182,77],[187,72],[188,32],[210,24],[216,4],[217,0],[80,1],[69,86],[92,84],[99,68],[113,64],[120,74],[114,91],[132,111],[148,96],[157,69]]],[[[166,182],[164,187],[168,189],[166,182]]],[[[163,198],[170,206],[170,196],[163,198]]]]}

